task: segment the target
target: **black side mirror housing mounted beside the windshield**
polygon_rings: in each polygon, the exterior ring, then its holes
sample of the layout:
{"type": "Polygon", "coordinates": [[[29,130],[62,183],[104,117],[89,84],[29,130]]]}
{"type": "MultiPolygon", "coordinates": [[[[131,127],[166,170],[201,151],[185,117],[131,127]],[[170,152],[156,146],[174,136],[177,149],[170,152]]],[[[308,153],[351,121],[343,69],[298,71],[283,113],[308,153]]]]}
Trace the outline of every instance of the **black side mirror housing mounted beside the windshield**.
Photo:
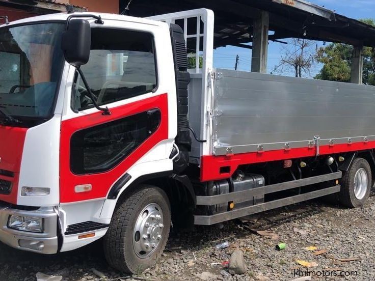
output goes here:
{"type": "Polygon", "coordinates": [[[75,18],[69,20],[67,29],[62,35],[62,49],[65,60],[72,66],[79,68],[87,64],[90,58],[91,29],[86,19],[75,18]]]}

